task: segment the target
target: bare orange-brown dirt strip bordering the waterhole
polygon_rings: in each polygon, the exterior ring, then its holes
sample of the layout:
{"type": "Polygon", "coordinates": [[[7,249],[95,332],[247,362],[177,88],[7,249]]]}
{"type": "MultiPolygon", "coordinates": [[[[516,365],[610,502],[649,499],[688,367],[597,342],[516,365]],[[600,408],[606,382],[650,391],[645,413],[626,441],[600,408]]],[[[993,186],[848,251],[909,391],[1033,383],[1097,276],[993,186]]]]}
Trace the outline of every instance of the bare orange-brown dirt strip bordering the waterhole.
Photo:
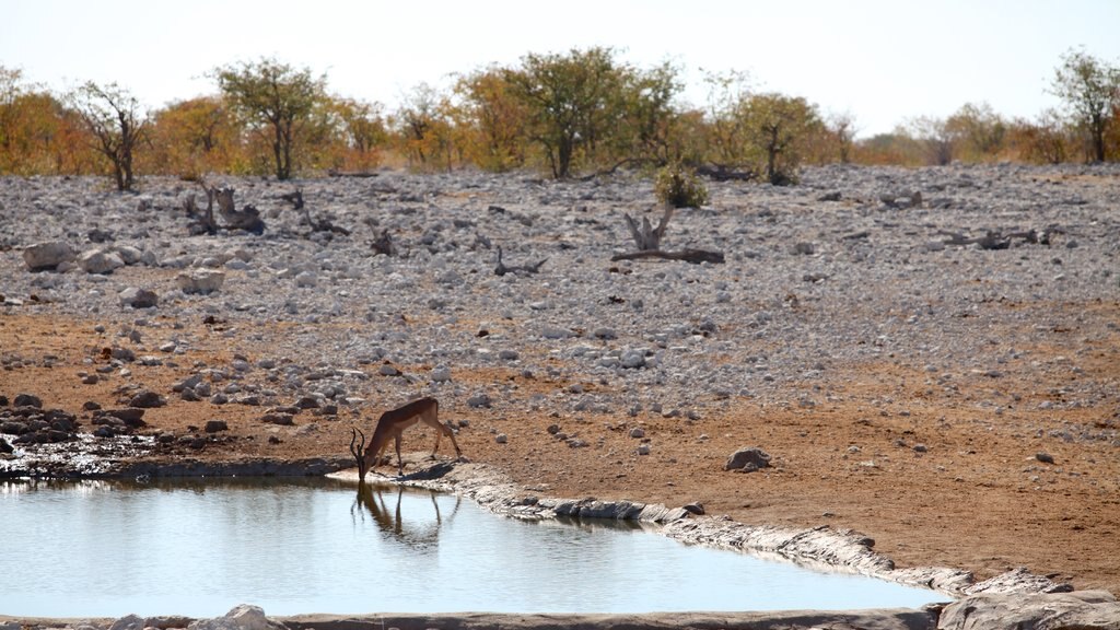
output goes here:
{"type": "MultiPolygon", "coordinates": [[[[456,400],[444,400],[442,411],[469,420],[458,437],[469,458],[498,466],[550,495],[670,506],[699,501],[708,513],[747,524],[852,528],[872,537],[876,548],[900,567],[953,566],[983,578],[1026,566],[1077,589],[1120,593],[1117,398],[1072,409],[1039,408],[1044,400],[1062,402],[1068,379],[1120,382],[1120,304],[1046,307],[1062,321],[1079,322],[1079,330],[1063,332],[1070,346],[1024,348],[1029,359],[1007,363],[999,378],[963,373],[952,390],[888,358],[830,367],[822,380],[806,385],[816,388],[813,406],[767,407],[732,398],[694,421],[645,413],[550,417],[530,411],[528,404],[510,414],[469,409],[456,400]],[[1076,371],[1039,368],[1068,361],[1072,352],[1076,371]],[[980,401],[997,401],[1004,411],[996,414],[980,401]],[[589,446],[558,442],[547,432],[553,423],[589,446]],[[638,441],[628,430],[636,425],[645,429],[650,455],[636,453],[638,441]],[[508,443],[497,444],[495,432],[506,434],[508,443]],[[747,445],[771,453],[774,466],[753,474],[724,472],[727,455],[747,445]],[[917,445],[925,451],[915,450],[917,445]],[[1037,461],[1039,452],[1051,454],[1054,464],[1037,461]]],[[[82,385],[80,372],[104,364],[99,351],[112,344],[112,326],[96,333],[94,325],[106,322],[31,315],[28,308],[0,312],[0,354],[25,363],[0,371],[0,393],[31,392],[48,407],[81,413],[87,400],[119,405],[120,388],[139,385],[168,395],[166,407],[146,416],[153,429],[185,434],[207,419],[228,421],[225,442],[165,456],[345,454],[352,424],[370,426],[380,410],[371,400],[364,415],[345,409],[335,420],[300,415],[296,427],[277,427],[256,419],[263,413],[259,407],[184,402],[170,395],[170,385],[192,373],[196,362],[227,365],[233,348],[253,360],[253,342],[231,341],[202,322],[186,323],[186,332],[202,341],[176,358],[179,367],[131,364],[130,376],[82,385]],[[301,430],[312,421],[317,430],[301,430]],[[271,444],[270,435],[280,443],[271,444]]],[[[152,323],[161,321],[153,317],[152,323]]],[[[987,334],[998,337],[1000,331],[987,334]]],[[[371,378],[382,378],[373,376],[376,365],[367,369],[371,378]]],[[[504,382],[526,400],[534,391],[570,385],[525,380],[516,371],[456,379],[504,382]]],[[[88,428],[87,420],[83,425],[88,428]]],[[[431,439],[430,432],[409,434],[405,448],[428,448],[431,439]]]]}

